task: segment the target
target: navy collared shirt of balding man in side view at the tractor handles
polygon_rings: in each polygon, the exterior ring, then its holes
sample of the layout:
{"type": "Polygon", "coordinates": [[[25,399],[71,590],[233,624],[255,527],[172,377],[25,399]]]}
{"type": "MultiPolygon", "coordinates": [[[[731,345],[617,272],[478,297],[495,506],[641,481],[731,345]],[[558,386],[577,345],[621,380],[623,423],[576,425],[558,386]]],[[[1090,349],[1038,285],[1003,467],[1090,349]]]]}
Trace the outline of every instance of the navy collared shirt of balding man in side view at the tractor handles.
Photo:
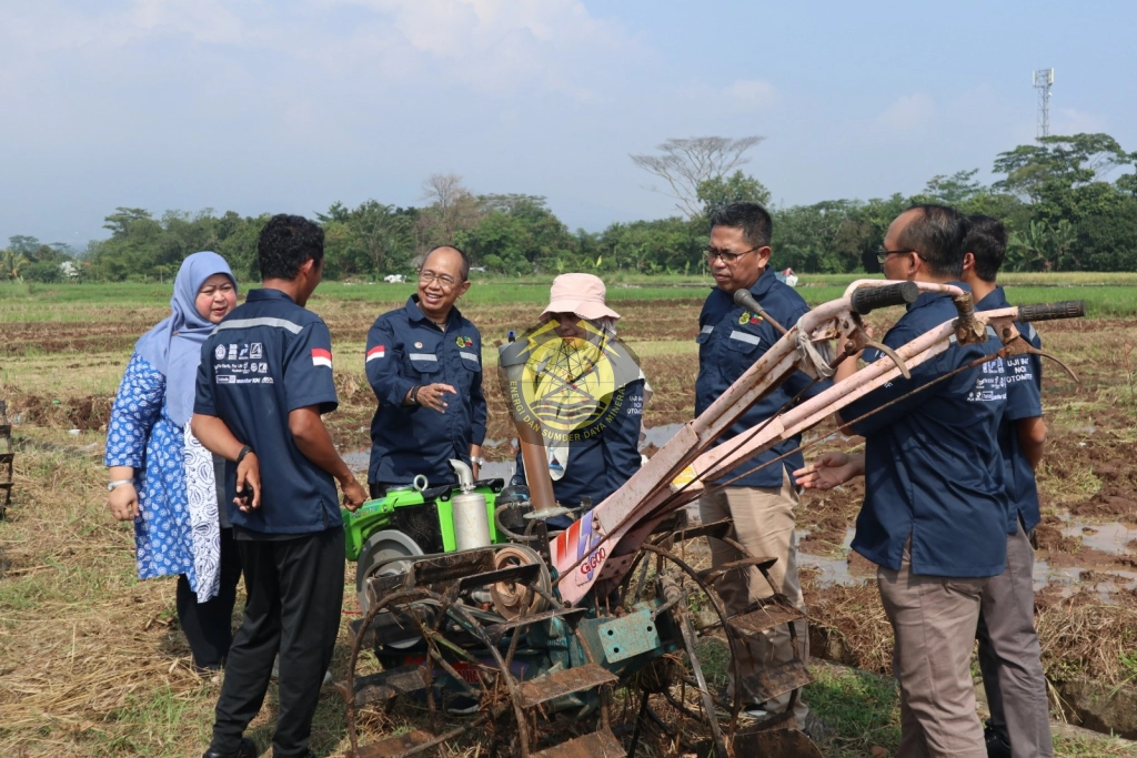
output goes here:
{"type": "MultiPolygon", "coordinates": [[[[966,290],[965,284],[952,282],[966,290]]],[[[924,292],[907,307],[882,342],[899,348],[956,318],[948,294],[924,292]]],[[[855,400],[841,411],[865,438],[864,505],[853,549],[877,565],[899,570],[912,539],[912,572],[930,576],[1001,574],[1006,560],[1007,501],[998,424],[1006,406],[1001,358],[964,368],[1002,347],[994,330],[987,342],[953,343],[935,358],[855,400]]],[[[889,360],[865,350],[865,360],[889,360]]]]}

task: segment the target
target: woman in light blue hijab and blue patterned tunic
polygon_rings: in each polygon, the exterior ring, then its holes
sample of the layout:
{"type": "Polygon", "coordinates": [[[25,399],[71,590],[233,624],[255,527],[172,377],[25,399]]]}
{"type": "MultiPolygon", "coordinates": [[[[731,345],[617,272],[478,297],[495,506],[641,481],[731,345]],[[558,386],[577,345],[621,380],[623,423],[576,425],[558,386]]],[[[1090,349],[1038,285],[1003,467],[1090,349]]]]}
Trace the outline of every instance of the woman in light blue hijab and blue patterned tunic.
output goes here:
{"type": "MultiPolygon", "coordinates": [[[[232,642],[241,575],[213,456],[190,433],[201,345],[236,305],[236,281],[216,252],[188,257],[171,315],[142,335],[110,411],[109,507],[134,519],[139,578],[179,575],[177,617],[199,669],[221,668],[232,642]]],[[[232,356],[234,360],[249,356],[232,356]]]]}

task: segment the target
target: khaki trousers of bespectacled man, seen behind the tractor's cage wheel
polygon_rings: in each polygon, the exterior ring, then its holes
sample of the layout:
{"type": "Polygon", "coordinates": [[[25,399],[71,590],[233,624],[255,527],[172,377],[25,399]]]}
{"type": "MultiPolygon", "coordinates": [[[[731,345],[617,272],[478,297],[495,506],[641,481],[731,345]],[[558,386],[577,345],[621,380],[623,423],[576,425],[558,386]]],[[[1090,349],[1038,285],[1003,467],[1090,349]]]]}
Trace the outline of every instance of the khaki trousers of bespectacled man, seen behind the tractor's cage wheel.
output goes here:
{"type": "MultiPolygon", "coordinates": [[[[750,555],[777,558],[778,563],[769,569],[770,578],[778,592],[788,597],[790,602],[805,613],[805,598],[802,597],[802,584],[797,577],[797,534],[794,532],[794,506],[797,503],[797,490],[782,466],[780,488],[725,488],[699,500],[699,515],[704,524],[730,518],[735,523],[733,539],[749,550],[750,555]]],[[[737,550],[722,540],[708,541],[712,565],[720,566],[741,558],[737,550]]],[[[731,616],[772,594],[765,577],[753,567],[746,572],[724,574],[715,583],[715,590],[723,600],[727,614],[731,616]]],[[[806,620],[795,622],[794,627],[797,632],[798,657],[808,663],[810,632],[806,620]]],[[[740,636],[739,642],[738,665],[744,677],[794,658],[789,627],[785,624],[766,630],[761,635],[740,636]]],[[[733,689],[732,667],[730,691],[733,692],[733,689]]],[[[810,709],[802,701],[800,693],[798,695],[794,716],[800,725],[805,723],[810,709]]],[[[786,693],[767,701],[766,710],[781,713],[788,705],[789,693],[786,693]]]]}

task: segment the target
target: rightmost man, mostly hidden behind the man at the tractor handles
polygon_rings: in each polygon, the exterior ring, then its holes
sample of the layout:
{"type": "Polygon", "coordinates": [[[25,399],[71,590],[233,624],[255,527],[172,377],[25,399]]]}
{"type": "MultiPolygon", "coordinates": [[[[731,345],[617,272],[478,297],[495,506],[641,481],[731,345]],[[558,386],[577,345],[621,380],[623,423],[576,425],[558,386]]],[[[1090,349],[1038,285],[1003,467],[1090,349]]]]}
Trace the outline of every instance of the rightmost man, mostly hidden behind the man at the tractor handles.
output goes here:
{"type": "MultiPolygon", "coordinates": [[[[1006,252],[1006,230],[990,216],[970,216],[964,243],[963,281],[971,286],[976,310],[1009,308],[995,277],[1006,252]]],[[[1030,324],[1015,324],[1022,339],[1041,347],[1030,324]]],[[[998,427],[1003,474],[1010,499],[1006,569],[984,588],[979,615],[979,668],[984,674],[990,722],[985,731],[990,758],[1049,758],[1049,703],[1041,650],[1035,631],[1035,549],[1030,534],[1040,520],[1035,467],[1043,457],[1041,359],[1036,355],[1006,360],[1006,410],[998,427]]]]}

